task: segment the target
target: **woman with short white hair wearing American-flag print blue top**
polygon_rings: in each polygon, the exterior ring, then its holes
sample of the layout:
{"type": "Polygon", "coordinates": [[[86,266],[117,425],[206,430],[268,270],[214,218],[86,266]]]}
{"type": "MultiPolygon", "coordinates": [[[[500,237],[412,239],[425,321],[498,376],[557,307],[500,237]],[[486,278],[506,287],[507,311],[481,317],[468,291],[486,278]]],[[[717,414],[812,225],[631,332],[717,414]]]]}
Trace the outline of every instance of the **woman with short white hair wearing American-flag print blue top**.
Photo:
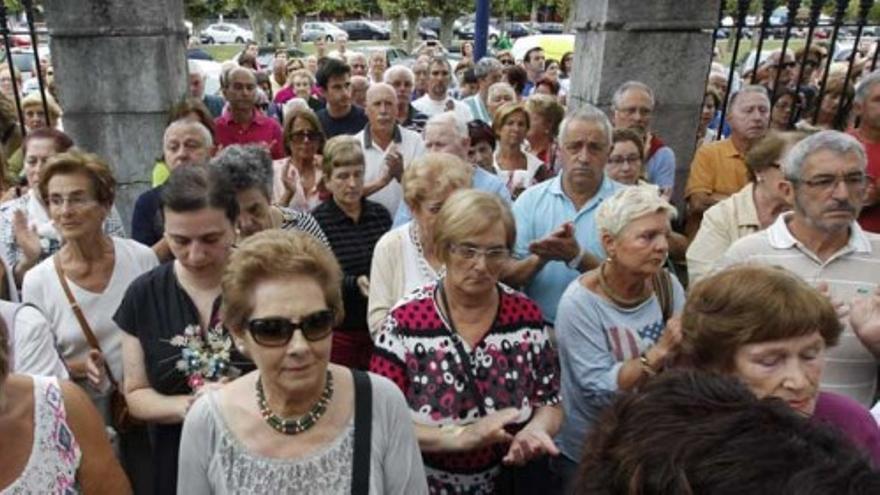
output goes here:
{"type": "Polygon", "coordinates": [[[558,469],[567,482],[584,438],[614,394],[662,371],[676,349],[680,333],[672,316],[685,294],[663,269],[674,216],[656,186],[618,190],[596,212],[606,259],[573,280],[559,301],[555,329],[566,415],[557,436],[558,469]]]}

